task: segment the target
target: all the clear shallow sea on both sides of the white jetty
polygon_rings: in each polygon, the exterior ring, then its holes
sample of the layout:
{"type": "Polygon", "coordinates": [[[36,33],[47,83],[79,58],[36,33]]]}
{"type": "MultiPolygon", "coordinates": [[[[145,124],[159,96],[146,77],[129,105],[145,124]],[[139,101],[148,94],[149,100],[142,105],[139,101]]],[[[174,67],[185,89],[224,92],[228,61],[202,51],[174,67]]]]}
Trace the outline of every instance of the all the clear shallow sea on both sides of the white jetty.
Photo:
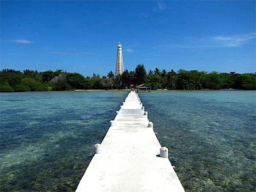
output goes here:
{"type": "MultiPolygon", "coordinates": [[[[74,191],[126,95],[1,93],[0,191],[74,191]]],[[[255,91],[140,97],[186,191],[255,191],[255,91]]]]}

